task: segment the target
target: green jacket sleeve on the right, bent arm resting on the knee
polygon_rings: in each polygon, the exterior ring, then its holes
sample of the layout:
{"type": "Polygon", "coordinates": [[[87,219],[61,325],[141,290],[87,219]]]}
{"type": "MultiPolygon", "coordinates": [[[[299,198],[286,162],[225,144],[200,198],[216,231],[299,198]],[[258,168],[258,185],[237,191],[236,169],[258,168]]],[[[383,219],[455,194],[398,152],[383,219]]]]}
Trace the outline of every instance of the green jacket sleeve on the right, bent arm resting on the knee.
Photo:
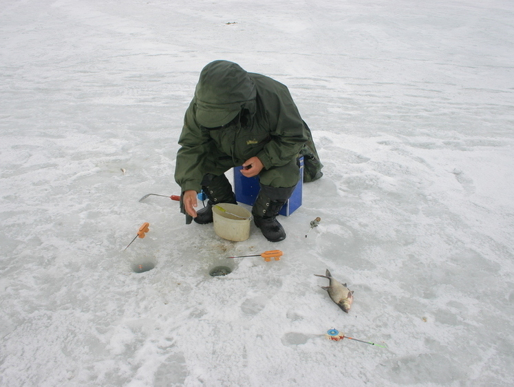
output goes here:
{"type": "Polygon", "coordinates": [[[257,154],[266,169],[281,167],[295,158],[308,140],[298,108],[285,85],[273,81],[260,97],[271,140],[257,154]]]}

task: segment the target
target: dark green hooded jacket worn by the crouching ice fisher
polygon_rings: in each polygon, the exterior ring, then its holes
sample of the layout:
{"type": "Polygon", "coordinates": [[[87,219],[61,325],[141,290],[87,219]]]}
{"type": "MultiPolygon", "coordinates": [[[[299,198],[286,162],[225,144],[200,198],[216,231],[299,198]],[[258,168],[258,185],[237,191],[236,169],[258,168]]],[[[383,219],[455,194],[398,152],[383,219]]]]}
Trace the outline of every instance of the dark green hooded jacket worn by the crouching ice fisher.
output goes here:
{"type": "Polygon", "coordinates": [[[257,156],[270,169],[296,158],[308,140],[310,131],[285,85],[214,61],[200,73],[184,117],[175,181],[182,192],[200,192],[206,160],[232,158],[242,165],[257,156]],[[231,121],[236,123],[226,125],[231,121]]]}

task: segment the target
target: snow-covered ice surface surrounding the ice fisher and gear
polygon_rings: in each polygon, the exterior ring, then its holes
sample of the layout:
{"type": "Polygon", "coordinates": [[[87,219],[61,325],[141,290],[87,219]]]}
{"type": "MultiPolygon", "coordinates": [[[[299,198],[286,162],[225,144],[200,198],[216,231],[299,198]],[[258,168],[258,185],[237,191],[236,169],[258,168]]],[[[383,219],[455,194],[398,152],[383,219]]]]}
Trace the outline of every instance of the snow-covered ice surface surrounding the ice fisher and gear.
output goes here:
{"type": "Polygon", "coordinates": [[[514,384],[512,1],[0,4],[1,386],[514,384]],[[216,59],[288,85],[325,165],[279,244],[138,202],[180,194],[216,59]]]}

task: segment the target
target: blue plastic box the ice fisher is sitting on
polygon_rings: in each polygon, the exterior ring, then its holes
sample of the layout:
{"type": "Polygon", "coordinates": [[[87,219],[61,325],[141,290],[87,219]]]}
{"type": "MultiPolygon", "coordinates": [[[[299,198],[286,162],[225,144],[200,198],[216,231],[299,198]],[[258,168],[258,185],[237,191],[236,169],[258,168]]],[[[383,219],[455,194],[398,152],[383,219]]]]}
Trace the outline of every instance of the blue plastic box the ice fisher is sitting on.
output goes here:
{"type": "MultiPolygon", "coordinates": [[[[299,158],[300,161],[300,181],[295,188],[295,191],[292,192],[291,197],[283,205],[279,214],[283,216],[290,216],[297,208],[301,206],[301,195],[303,191],[303,156],[299,158]]],[[[239,172],[242,167],[234,168],[234,192],[235,199],[244,203],[245,205],[253,206],[255,203],[255,199],[259,194],[259,176],[254,176],[253,178],[246,178],[239,172]]]]}

